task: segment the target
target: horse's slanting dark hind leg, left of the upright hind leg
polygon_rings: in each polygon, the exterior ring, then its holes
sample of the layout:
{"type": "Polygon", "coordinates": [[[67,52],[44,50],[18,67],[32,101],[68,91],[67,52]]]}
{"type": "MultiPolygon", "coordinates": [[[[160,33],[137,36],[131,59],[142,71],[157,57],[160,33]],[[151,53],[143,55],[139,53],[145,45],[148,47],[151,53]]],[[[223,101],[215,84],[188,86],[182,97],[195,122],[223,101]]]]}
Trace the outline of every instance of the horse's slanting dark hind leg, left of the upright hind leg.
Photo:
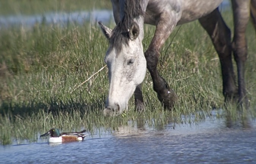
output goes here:
{"type": "Polygon", "coordinates": [[[223,79],[225,102],[237,95],[236,80],[232,66],[231,32],[221,17],[218,9],[199,19],[207,31],[218,53],[223,79]]]}

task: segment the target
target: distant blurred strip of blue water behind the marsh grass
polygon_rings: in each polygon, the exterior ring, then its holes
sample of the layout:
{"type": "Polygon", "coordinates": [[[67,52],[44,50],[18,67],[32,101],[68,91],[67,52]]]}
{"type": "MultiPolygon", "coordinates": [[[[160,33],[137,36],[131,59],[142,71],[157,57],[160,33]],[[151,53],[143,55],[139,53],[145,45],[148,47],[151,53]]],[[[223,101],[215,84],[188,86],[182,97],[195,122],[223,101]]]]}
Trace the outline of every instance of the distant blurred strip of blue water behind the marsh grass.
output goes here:
{"type": "MultiPolygon", "coordinates": [[[[229,0],[224,0],[220,5],[220,10],[225,10],[230,7],[229,0]]],[[[82,12],[52,12],[42,15],[15,15],[15,16],[0,16],[0,28],[8,27],[9,25],[22,25],[25,27],[31,27],[35,23],[42,21],[45,23],[58,23],[66,25],[67,22],[75,22],[82,24],[84,22],[95,23],[101,21],[104,23],[114,22],[112,10],[94,10],[94,11],[82,11],[82,12]]]]}

